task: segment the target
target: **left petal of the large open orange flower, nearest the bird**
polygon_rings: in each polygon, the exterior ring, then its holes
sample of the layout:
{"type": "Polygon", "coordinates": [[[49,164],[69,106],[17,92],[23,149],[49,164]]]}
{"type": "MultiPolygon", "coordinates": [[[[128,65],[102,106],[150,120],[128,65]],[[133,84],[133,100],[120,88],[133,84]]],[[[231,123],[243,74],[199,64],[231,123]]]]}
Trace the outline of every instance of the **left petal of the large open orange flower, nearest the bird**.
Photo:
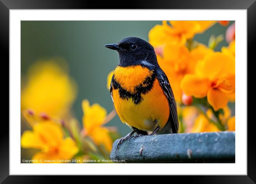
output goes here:
{"type": "Polygon", "coordinates": [[[187,74],[181,81],[181,90],[188,96],[203,98],[206,96],[210,81],[207,78],[201,78],[196,75],[187,74]]]}

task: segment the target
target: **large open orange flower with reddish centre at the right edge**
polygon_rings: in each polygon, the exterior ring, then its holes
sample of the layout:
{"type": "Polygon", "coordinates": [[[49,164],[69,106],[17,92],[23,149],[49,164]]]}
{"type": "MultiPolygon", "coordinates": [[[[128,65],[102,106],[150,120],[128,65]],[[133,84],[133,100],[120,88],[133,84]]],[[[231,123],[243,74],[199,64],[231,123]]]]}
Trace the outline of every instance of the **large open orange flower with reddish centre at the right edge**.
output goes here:
{"type": "Polygon", "coordinates": [[[235,90],[235,57],[220,52],[208,54],[197,63],[195,74],[184,76],[180,86],[186,95],[207,96],[215,111],[226,107],[235,90]]]}

